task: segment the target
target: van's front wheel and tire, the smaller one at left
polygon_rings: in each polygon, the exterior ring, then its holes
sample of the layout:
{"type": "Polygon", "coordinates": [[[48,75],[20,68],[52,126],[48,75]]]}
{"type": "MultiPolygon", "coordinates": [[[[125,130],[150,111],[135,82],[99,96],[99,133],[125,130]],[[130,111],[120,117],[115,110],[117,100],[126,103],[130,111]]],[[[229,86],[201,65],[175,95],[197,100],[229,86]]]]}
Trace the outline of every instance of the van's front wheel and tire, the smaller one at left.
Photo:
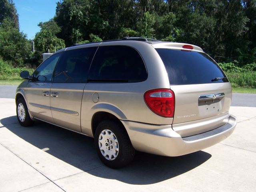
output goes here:
{"type": "Polygon", "coordinates": [[[28,114],[28,107],[23,98],[19,98],[16,103],[16,114],[17,119],[20,125],[24,127],[31,126],[34,124],[34,121],[31,120],[29,114],[28,114]]]}

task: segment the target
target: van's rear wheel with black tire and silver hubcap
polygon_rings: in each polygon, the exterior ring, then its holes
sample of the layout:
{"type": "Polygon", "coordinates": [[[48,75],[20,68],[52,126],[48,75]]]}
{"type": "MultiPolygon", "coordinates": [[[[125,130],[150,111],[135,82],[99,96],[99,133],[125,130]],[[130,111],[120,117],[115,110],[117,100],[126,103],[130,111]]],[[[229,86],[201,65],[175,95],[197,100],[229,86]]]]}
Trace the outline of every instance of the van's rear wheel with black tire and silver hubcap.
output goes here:
{"type": "Polygon", "coordinates": [[[100,160],[110,168],[121,168],[134,158],[135,149],[123,126],[104,120],[97,126],[94,136],[100,160]]]}

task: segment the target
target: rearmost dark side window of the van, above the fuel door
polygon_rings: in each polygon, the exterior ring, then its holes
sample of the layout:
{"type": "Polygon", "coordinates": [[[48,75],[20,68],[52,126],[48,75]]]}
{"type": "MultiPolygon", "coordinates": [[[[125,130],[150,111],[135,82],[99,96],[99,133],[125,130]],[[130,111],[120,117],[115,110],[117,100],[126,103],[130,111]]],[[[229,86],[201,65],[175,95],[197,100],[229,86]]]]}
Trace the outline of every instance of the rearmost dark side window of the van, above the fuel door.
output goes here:
{"type": "Polygon", "coordinates": [[[88,80],[139,82],[148,74],[140,54],[128,46],[102,46],[96,52],[88,80]]]}

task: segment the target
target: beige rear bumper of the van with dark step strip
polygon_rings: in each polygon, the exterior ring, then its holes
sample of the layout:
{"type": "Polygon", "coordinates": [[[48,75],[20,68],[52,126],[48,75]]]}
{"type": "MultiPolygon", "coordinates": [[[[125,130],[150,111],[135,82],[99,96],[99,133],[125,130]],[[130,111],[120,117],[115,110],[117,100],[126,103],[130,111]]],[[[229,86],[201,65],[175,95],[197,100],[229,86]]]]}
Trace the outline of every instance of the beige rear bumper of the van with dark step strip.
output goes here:
{"type": "Polygon", "coordinates": [[[230,115],[228,122],[221,127],[182,138],[171,125],[122,121],[136,150],[163,156],[181,156],[217,144],[232,134],[236,122],[236,117],[230,115]]]}

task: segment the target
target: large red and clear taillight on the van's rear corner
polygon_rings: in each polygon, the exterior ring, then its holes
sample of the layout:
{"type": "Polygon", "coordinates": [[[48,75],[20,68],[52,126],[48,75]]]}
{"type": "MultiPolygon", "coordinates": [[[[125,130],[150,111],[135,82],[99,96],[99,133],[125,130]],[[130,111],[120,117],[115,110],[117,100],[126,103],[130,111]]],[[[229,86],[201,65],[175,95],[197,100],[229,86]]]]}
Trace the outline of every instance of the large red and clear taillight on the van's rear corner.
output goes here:
{"type": "Polygon", "coordinates": [[[173,117],[175,98],[172,90],[149,90],[144,94],[144,100],[154,113],[163,117],[173,117]]]}

